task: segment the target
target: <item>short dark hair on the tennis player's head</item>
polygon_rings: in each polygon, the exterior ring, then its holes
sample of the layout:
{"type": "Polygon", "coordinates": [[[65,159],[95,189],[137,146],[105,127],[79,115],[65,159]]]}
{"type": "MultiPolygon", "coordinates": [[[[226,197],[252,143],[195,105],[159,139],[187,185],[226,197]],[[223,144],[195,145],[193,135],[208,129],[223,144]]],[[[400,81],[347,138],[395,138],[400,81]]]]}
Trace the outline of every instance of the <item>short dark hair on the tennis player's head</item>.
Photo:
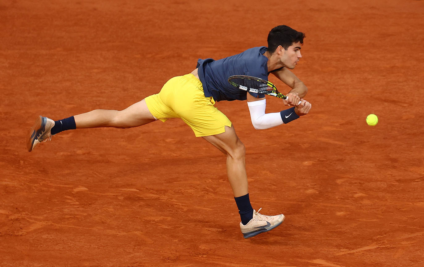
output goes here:
{"type": "Polygon", "coordinates": [[[304,38],[304,33],[293,30],[289,26],[279,25],[274,27],[268,33],[268,53],[274,53],[279,45],[284,47],[285,50],[293,43],[300,42],[303,45],[304,38]]]}

